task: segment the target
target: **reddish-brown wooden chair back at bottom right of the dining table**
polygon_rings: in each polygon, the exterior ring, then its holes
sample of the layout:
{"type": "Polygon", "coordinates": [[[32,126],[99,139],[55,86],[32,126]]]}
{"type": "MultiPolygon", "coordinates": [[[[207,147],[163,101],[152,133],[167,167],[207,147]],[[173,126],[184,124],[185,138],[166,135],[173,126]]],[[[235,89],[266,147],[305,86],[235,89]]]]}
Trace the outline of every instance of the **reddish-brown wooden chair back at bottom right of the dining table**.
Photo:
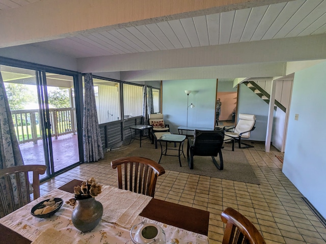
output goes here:
{"type": "Polygon", "coordinates": [[[226,208],[221,219],[226,223],[222,244],[266,244],[256,227],[233,208],[226,208]]]}

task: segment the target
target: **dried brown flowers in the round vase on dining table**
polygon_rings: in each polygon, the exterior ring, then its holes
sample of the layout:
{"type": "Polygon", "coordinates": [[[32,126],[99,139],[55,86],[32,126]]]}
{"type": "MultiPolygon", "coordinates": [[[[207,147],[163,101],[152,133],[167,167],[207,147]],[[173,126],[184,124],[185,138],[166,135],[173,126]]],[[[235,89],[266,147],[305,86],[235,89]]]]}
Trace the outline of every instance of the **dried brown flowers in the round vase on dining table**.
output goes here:
{"type": "Polygon", "coordinates": [[[75,206],[76,200],[88,199],[91,197],[96,197],[102,192],[102,186],[98,185],[96,180],[92,177],[89,180],[83,181],[81,186],[76,186],[73,188],[75,194],[74,198],[66,201],[67,204],[75,206]]]}

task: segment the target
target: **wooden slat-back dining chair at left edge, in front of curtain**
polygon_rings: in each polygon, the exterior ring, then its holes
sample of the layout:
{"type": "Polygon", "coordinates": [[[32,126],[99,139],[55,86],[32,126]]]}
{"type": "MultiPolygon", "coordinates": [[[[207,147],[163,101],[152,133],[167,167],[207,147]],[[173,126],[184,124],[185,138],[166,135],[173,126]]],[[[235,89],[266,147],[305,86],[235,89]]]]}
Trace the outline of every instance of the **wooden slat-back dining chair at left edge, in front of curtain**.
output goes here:
{"type": "Polygon", "coordinates": [[[40,197],[40,175],[45,165],[21,165],[0,170],[0,218],[31,201],[29,172],[33,172],[33,200],[40,197]]]}

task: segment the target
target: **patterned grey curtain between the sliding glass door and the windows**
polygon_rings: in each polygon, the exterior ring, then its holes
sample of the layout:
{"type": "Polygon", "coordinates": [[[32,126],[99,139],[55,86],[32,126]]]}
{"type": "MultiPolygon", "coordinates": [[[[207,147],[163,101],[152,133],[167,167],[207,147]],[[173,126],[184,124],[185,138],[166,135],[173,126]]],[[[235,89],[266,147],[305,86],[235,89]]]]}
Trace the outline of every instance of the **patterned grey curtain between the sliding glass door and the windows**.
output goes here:
{"type": "Polygon", "coordinates": [[[85,162],[95,162],[104,159],[100,129],[95,103],[92,74],[85,75],[84,101],[84,156],[85,162]]]}

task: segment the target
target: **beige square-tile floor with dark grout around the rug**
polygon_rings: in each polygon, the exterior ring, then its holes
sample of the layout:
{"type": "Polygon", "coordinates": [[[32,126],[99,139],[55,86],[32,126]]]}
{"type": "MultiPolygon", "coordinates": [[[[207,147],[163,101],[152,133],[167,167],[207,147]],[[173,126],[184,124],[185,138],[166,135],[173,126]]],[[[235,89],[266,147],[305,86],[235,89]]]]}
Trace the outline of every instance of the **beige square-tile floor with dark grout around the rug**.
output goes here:
{"type": "MultiPolygon", "coordinates": [[[[133,144],[133,143],[132,143],[133,144]]],[[[131,144],[131,145],[132,145],[131,144]]],[[[273,146],[265,153],[263,143],[243,149],[260,185],[166,171],[158,178],[155,198],[192,206],[210,212],[210,243],[222,243],[221,212],[233,207],[261,231],[266,243],[326,243],[326,228],[302,201],[302,194],[282,173],[282,156],[273,146]]],[[[82,164],[41,185],[41,195],[64,185],[73,178],[95,177],[101,184],[117,186],[113,159],[126,155],[131,148],[109,151],[105,159],[82,164]]]]}

